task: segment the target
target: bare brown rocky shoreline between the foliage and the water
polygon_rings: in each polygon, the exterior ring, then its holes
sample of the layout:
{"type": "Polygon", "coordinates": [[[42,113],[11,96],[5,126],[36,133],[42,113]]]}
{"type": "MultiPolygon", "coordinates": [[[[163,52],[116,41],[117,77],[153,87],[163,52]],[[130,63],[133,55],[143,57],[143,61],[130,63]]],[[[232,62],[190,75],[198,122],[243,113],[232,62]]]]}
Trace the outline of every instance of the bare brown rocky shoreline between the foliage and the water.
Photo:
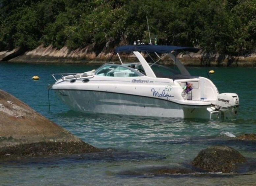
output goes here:
{"type": "MultiPolygon", "coordinates": [[[[93,46],[69,50],[67,47],[61,49],[53,48],[51,45],[44,47],[38,46],[31,51],[22,51],[14,49],[13,51],[0,52],[0,61],[9,61],[13,63],[34,63],[34,64],[83,64],[83,65],[101,65],[104,63],[120,63],[118,56],[113,55],[114,49],[104,47],[103,50],[95,50],[93,46]]],[[[136,58],[131,54],[125,54],[121,57],[126,62],[134,62],[136,58]]],[[[256,53],[244,56],[227,56],[214,54],[204,55],[201,51],[198,53],[180,54],[177,58],[185,66],[256,66],[256,53]],[[211,60],[211,62],[209,61],[211,60]]],[[[163,65],[171,65],[170,59],[161,60],[163,65]]]]}

